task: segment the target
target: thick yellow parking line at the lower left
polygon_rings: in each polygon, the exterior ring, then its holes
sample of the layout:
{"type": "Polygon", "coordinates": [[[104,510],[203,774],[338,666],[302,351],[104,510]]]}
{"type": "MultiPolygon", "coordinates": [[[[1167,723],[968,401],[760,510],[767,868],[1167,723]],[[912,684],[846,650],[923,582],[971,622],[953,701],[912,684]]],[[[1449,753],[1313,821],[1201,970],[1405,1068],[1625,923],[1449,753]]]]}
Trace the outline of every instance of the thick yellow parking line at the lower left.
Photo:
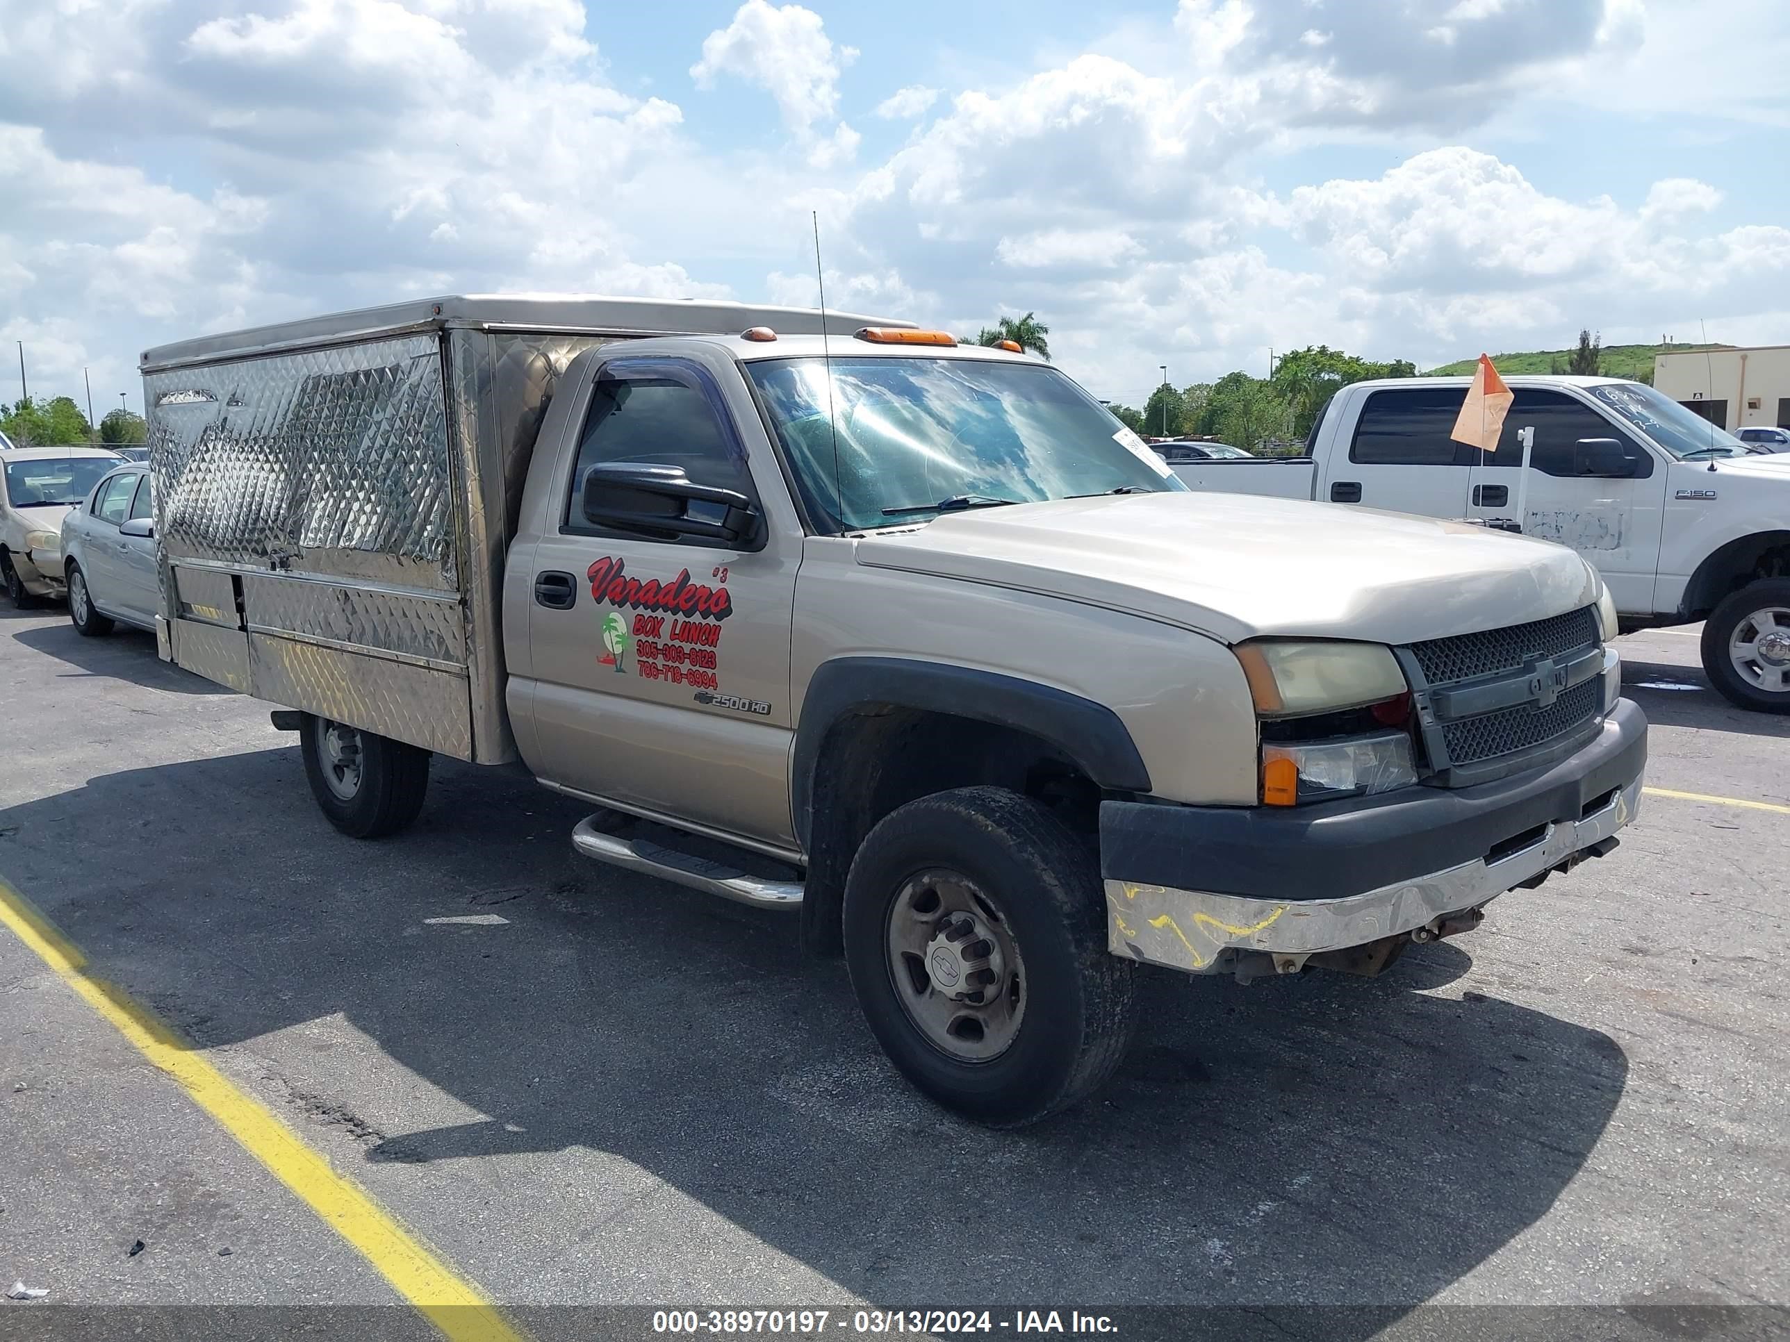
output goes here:
{"type": "Polygon", "coordinates": [[[270,1109],[231,1084],[122,988],[88,973],[88,957],[81,948],[5,880],[0,880],[0,923],[143,1057],[181,1083],[200,1109],[217,1118],[243,1151],[272,1170],[324,1224],[354,1245],[449,1342],[523,1342],[471,1285],[456,1278],[353,1181],[337,1174],[328,1159],[304,1145],[270,1109]]]}

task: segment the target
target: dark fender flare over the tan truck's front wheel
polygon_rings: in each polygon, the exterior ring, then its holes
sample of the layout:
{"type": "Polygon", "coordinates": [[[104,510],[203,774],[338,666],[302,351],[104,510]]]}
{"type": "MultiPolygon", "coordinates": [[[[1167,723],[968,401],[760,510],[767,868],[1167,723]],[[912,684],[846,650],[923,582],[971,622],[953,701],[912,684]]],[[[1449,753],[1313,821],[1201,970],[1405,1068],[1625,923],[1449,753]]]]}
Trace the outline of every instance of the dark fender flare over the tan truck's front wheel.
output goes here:
{"type": "Polygon", "coordinates": [[[1104,703],[1020,676],[908,657],[840,657],[822,664],[802,700],[791,757],[791,811],[807,848],[814,769],[832,728],[854,710],[916,709],[1027,732],[1061,750],[1099,787],[1149,793],[1131,732],[1104,703]]]}

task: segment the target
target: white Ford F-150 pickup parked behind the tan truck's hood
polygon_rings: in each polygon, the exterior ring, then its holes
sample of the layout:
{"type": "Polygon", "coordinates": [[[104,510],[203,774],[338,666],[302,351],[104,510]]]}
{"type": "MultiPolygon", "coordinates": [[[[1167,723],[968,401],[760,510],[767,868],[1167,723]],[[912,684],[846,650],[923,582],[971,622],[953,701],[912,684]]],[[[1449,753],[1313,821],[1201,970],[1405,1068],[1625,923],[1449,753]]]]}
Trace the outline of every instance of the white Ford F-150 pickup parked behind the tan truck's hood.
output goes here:
{"type": "Polygon", "coordinates": [[[1624,628],[1706,621],[1702,666],[1742,709],[1790,712],[1790,456],[1760,454],[1668,395],[1616,378],[1507,378],[1496,453],[1448,431],[1468,378],[1355,383],[1310,458],[1190,462],[1192,488],[1514,524],[1597,565],[1624,628]]]}

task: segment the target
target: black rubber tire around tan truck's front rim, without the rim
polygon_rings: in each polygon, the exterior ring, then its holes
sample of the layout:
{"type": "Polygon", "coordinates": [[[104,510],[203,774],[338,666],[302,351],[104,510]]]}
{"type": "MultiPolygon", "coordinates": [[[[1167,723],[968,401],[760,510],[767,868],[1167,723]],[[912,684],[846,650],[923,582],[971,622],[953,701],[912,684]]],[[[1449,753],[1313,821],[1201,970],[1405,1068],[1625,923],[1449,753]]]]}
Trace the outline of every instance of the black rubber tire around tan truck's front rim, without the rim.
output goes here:
{"type": "MultiPolygon", "coordinates": [[[[1106,950],[1099,868],[1061,821],[1019,793],[963,787],[890,812],[852,861],[843,932],[870,1032],[902,1075],[965,1118],[1036,1122],[1087,1097],[1124,1057],[1133,966],[1106,950]],[[897,986],[897,900],[936,870],[968,877],[1017,945],[1024,1013],[1004,1052],[986,1061],[950,1056],[927,1038],[902,1004],[902,993],[918,990],[897,986]]],[[[924,995],[936,990],[927,982],[924,995]]]]}

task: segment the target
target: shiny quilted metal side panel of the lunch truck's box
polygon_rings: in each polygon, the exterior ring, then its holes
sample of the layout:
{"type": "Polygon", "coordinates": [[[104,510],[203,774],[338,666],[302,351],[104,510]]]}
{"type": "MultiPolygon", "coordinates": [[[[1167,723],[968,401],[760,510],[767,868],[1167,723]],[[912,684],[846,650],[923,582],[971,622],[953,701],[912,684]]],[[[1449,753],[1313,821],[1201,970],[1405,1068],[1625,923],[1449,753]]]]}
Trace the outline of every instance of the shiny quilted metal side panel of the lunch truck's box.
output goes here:
{"type": "Polygon", "coordinates": [[[143,390],[174,660],[471,759],[467,481],[440,336],[174,369],[143,390]]]}

